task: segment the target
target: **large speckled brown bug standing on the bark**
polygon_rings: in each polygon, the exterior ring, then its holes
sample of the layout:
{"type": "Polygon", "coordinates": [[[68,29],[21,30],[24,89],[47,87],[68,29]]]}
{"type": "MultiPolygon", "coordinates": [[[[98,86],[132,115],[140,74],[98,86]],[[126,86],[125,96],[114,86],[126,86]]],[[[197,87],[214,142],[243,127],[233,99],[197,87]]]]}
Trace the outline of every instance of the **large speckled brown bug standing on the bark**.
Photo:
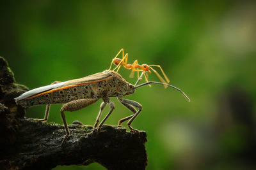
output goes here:
{"type": "MultiPolygon", "coordinates": [[[[140,78],[142,76],[143,74],[141,74],[140,78]]],[[[129,120],[129,122],[127,122],[129,129],[131,129],[131,131],[138,132],[138,130],[131,127],[131,124],[141,112],[142,106],[136,101],[123,99],[122,97],[134,94],[135,89],[143,87],[144,85],[167,85],[168,87],[179,90],[182,95],[186,97],[188,101],[190,101],[188,96],[186,96],[186,94],[184,94],[184,92],[182,92],[182,90],[178,89],[177,87],[156,81],[148,81],[138,85],[140,78],[134,85],[132,85],[131,83],[125,81],[124,78],[122,78],[122,76],[115,71],[106,70],[102,73],[92,74],[90,76],[75,80],[64,82],[54,81],[51,85],[39,87],[37,89],[29,90],[28,92],[21,94],[19,97],[15,98],[15,101],[17,104],[20,104],[24,108],[29,108],[31,106],[40,104],[47,104],[45,109],[45,116],[43,119],[38,119],[38,122],[44,122],[48,119],[51,104],[64,103],[60,109],[60,113],[65,127],[66,135],[61,143],[61,146],[67,141],[68,136],[70,135],[64,112],[80,110],[86,106],[89,106],[90,104],[97,102],[100,98],[102,98],[103,101],[100,104],[100,111],[96,118],[94,128],[97,127],[100,116],[102,114],[102,110],[107,104],[109,104],[110,111],[100,122],[98,131],[107,120],[109,115],[111,115],[112,111],[115,109],[115,104],[110,100],[110,97],[117,97],[118,101],[120,101],[120,103],[122,103],[133,113],[129,117],[120,119],[118,125],[122,124],[122,122],[126,120],[129,120]],[[136,110],[134,107],[138,108],[138,110],[136,110]]]]}

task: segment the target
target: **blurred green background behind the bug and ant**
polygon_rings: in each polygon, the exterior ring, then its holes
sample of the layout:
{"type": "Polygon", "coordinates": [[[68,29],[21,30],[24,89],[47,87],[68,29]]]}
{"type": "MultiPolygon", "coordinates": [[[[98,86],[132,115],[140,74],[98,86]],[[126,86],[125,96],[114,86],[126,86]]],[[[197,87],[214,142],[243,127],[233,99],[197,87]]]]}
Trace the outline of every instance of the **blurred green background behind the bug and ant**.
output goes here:
{"type": "MultiPolygon", "coordinates": [[[[255,1],[2,1],[0,6],[0,55],[17,83],[29,89],[104,71],[124,48],[130,63],[161,65],[170,84],[188,94],[191,103],[176,90],[152,85],[125,97],[143,105],[132,125],[147,132],[147,169],[256,167],[255,1]]],[[[119,73],[135,83],[131,71],[122,67],[119,73]]],[[[154,73],[148,79],[159,81],[154,73]]],[[[116,109],[106,124],[117,125],[131,113],[112,101],[116,109]]],[[[100,102],[67,112],[68,124],[93,125],[100,102]]],[[[52,106],[49,122],[63,124],[60,107],[52,106]]],[[[29,108],[26,117],[43,118],[44,108],[29,108]]]]}

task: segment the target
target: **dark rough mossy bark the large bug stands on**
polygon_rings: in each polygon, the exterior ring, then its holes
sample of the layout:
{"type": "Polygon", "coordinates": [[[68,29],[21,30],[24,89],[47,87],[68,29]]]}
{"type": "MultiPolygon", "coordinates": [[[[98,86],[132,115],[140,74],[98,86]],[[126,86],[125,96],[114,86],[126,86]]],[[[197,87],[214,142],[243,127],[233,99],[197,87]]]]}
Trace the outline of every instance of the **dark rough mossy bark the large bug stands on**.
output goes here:
{"type": "Polygon", "coordinates": [[[145,132],[126,132],[121,126],[104,125],[97,132],[75,121],[68,125],[39,123],[24,117],[14,97],[28,90],[15,83],[8,64],[0,57],[0,167],[1,169],[51,169],[58,165],[88,165],[98,162],[107,169],[145,169],[145,132]]]}

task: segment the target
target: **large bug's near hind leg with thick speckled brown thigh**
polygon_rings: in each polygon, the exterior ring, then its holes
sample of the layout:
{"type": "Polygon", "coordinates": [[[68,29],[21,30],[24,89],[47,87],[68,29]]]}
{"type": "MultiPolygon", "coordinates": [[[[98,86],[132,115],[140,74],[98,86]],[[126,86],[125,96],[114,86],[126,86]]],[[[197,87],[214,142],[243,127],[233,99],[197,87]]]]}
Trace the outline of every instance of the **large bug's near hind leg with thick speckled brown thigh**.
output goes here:
{"type": "Polygon", "coordinates": [[[89,106],[90,104],[95,103],[96,101],[98,101],[99,99],[78,99],[76,101],[70,101],[66,104],[63,104],[63,106],[60,109],[60,114],[61,114],[61,118],[65,127],[65,131],[66,131],[66,136],[63,139],[61,146],[65,143],[65,141],[67,141],[68,136],[70,134],[70,131],[68,129],[68,125],[67,125],[67,121],[65,118],[65,114],[64,111],[76,111],[76,110],[81,110],[82,108],[85,108],[86,106],[89,106]]]}

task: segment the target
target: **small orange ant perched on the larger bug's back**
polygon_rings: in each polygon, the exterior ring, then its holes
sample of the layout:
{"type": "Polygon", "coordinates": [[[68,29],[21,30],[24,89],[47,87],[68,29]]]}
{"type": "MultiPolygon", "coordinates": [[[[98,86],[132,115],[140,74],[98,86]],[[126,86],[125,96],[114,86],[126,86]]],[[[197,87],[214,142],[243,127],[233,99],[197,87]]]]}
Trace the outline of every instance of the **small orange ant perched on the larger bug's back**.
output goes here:
{"type": "MultiPolygon", "coordinates": [[[[112,64],[115,64],[115,65],[116,65],[115,69],[117,68],[117,70],[116,70],[116,73],[117,73],[118,70],[120,69],[120,67],[123,65],[126,69],[132,69],[132,72],[131,72],[131,74],[130,74],[130,77],[133,77],[134,71],[137,71],[137,73],[138,73],[138,78],[139,78],[139,72],[142,71],[142,73],[143,73],[144,76],[145,76],[145,80],[148,81],[146,73],[148,72],[148,73],[151,74],[151,71],[150,71],[150,69],[151,69],[154,73],[156,73],[157,77],[161,80],[162,83],[169,83],[169,82],[170,82],[169,78],[166,76],[166,74],[164,73],[164,71],[163,71],[163,69],[162,69],[161,66],[159,66],[159,65],[154,65],[154,64],[149,65],[149,66],[148,66],[147,64],[141,64],[141,65],[140,65],[140,64],[138,64],[138,60],[135,60],[135,61],[133,62],[133,64],[127,64],[127,60],[128,60],[128,53],[125,53],[125,55],[124,55],[124,48],[122,48],[122,49],[116,54],[115,58],[112,60],[112,62],[111,62],[111,64],[110,64],[110,67],[109,67],[109,70],[111,70],[112,64]],[[119,55],[121,52],[122,52],[122,59],[119,59],[119,58],[117,58],[117,57],[118,57],[118,55],[119,55]],[[157,71],[156,71],[155,69],[153,69],[152,67],[159,67],[159,68],[161,69],[161,72],[162,72],[163,75],[164,75],[165,80],[164,80],[164,79],[160,76],[160,74],[157,73],[157,71]]],[[[115,69],[113,69],[113,71],[115,71],[115,69]]],[[[167,85],[164,85],[164,87],[167,88],[168,86],[167,86],[167,85]]]]}

